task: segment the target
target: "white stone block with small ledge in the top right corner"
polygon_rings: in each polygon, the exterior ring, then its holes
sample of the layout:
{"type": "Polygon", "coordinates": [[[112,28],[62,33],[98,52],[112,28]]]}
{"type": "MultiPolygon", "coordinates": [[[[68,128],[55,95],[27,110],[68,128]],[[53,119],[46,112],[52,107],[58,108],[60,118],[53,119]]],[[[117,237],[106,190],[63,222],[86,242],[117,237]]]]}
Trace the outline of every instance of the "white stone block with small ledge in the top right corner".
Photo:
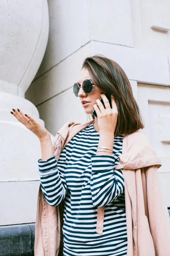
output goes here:
{"type": "Polygon", "coordinates": [[[170,1],[131,0],[135,47],[169,54],[170,1]]]}

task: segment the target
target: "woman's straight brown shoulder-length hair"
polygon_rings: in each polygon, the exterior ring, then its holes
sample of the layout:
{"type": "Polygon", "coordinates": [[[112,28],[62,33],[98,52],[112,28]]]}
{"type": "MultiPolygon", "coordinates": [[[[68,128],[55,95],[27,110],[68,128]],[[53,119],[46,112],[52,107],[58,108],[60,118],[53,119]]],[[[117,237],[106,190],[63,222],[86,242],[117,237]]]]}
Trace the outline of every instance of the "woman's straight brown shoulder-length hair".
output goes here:
{"type": "MultiPolygon", "coordinates": [[[[120,65],[103,55],[94,55],[84,60],[83,68],[88,69],[96,87],[115,97],[118,108],[115,137],[143,129],[144,123],[129,79],[120,65]]],[[[94,119],[93,115],[92,117],[94,119]]]]}

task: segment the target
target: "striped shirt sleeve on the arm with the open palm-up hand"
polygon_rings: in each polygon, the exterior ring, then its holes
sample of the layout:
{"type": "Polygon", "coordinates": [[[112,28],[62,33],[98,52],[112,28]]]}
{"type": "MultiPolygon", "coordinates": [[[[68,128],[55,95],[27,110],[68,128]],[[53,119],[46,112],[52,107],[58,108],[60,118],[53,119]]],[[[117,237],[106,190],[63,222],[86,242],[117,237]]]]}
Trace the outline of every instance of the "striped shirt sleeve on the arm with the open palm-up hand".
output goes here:
{"type": "Polygon", "coordinates": [[[65,177],[57,168],[56,157],[53,156],[47,161],[39,159],[38,167],[44,197],[51,206],[56,206],[64,200],[67,193],[65,177]]]}

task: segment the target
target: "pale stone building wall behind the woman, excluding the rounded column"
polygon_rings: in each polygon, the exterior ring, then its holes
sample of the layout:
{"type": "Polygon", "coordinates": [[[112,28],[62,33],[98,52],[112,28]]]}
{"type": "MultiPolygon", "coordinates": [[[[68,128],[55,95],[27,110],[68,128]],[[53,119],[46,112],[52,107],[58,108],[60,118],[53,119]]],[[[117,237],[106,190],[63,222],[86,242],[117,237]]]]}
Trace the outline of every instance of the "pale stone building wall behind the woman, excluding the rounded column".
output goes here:
{"type": "Polygon", "coordinates": [[[44,59],[25,97],[55,136],[67,121],[86,122],[74,96],[83,60],[103,54],[126,72],[145,128],[162,161],[158,169],[170,207],[170,2],[167,0],[49,1],[44,59]]]}

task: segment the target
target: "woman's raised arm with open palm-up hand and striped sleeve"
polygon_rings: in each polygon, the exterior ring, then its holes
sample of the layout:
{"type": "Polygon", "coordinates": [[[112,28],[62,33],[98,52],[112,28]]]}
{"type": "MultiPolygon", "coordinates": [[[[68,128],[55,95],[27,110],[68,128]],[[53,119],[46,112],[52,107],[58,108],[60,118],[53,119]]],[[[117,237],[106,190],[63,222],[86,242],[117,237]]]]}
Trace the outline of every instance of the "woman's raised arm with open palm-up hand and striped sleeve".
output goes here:
{"type": "Polygon", "coordinates": [[[42,153],[42,159],[38,160],[40,186],[47,202],[51,206],[55,206],[64,200],[67,186],[64,175],[57,168],[50,133],[30,115],[24,114],[21,109],[13,109],[12,114],[27,129],[32,131],[40,141],[42,153]]]}

